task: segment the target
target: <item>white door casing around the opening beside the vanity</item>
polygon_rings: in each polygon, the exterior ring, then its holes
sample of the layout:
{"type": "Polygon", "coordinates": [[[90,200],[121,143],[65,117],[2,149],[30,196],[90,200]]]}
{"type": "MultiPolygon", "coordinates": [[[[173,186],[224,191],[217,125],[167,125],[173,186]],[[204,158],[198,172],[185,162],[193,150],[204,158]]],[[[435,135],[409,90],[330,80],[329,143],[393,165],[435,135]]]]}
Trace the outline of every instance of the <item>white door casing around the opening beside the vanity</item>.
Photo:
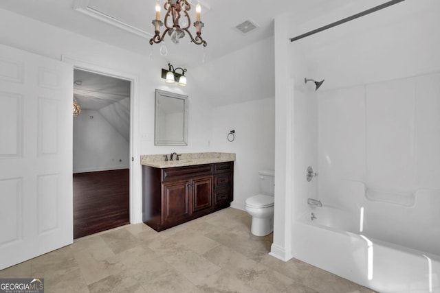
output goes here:
{"type": "MultiPolygon", "coordinates": [[[[129,169],[130,169],[130,202],[129,202],[129,209],[130,209],[130,223],[138,223],[142,222],[142,198],[140,196],[135,196],[137,194],[140,194],[139,188],[136,188],[137,186],[140,186],[141,183],[141,166],[140,166],[140,154],[138,150],[138,136],[134,135],[137,133],[137,124],[135,124],[135,121],[137,121],[137,110],[138,107],[138,95],[139,91],[138,84],[139,84],[139,77],[133,73],[127,73],[125,71],[121,71],[119,69],[111,69],[109,67],[102,67],[100,65],[96,65],[94,63],[86,62],[83,60],[78,60],[76,58],[72,58],[69,56],[61,56],[61,61],[69,63],[73,65],[73,69],[79,69],[83,71],[89,71],[92,73],[97,73],[100,75],[107,75],[113,78],[118,78],[120,80],[127,80],[130,82],[130,163],[129,163],[129,169]],[[135,164],[137,162],[138,164],[135,164]]],[[[74,84],[74,80],[72,80],[72,87],[74,84]]],[[[73,118],[72,118],[73,119],[73,118]]],[[[73,135],[73,129],[72,129],[72,135],[73,135]]]]}

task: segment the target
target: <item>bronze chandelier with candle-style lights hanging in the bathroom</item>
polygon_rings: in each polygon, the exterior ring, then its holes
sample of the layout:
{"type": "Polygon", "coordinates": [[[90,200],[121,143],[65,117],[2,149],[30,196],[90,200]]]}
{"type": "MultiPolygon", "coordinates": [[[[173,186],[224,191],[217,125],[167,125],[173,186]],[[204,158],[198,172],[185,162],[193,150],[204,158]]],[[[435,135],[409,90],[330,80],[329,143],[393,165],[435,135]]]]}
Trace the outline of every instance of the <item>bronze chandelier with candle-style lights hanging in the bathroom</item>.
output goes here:
{"type": "Polygon", "coordinates": [[[191,41],[196,45],[202,45],[206,47],[206,41],[201,38],[201,28],[203,27],[203,22],[200,21],[201,7],[200,3],[196,5],[196,21],[194,23],[196,36],[192,37],[192,34],[188,30],[190,27],[191,19],[188,11],[191,9],[191,5],[187,0],[164,0],[164,9],[166,10],[164,23],[160,20],[160,5],[156,4],[156,19],[152,21],[154,25],[154,36],[150,40],[150,44],[161,43],[164,41],[164,37],[168,33],[171,41],[175,44],[179,43],[179,39],[185,36],[185,32],[191,38],[191,41]],[[166,29],[160,35],[160,27],[165,25],[166,29]]]}

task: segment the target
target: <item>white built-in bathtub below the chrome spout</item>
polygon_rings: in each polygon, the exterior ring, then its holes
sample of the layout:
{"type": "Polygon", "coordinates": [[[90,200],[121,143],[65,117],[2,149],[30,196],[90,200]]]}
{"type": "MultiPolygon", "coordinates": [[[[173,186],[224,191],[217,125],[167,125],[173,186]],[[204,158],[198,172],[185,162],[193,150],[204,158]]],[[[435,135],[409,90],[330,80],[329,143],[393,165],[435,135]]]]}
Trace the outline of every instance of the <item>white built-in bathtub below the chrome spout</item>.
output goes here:
{"type": "Polygon", "coordinates": [[[358,199],[358,211],[323,202],[294,222],[292,253],[377,292],[440,292],[440,207],[418,215],[423,196],[412,207],[358,199]]]}

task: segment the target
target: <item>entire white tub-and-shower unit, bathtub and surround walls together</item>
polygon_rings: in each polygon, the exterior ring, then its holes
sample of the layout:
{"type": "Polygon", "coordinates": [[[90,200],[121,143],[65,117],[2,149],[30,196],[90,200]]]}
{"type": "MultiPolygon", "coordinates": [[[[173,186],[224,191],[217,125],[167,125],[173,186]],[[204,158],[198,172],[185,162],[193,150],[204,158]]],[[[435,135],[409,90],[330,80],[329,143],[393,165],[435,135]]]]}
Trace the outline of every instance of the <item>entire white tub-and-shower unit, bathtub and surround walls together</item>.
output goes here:
{"type": "Polygon", "coordinates": [[[294,257],[380,292],[440,292],[440,73],[296,91],[294,111],[294,257]]]}

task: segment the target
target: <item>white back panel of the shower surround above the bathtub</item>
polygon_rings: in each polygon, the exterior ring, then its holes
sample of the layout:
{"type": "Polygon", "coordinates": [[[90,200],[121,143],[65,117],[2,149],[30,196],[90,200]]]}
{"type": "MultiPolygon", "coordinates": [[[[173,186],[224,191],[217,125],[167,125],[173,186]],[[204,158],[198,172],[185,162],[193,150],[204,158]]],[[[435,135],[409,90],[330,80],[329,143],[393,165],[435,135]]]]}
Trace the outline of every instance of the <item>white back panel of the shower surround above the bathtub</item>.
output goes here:
{"type": "Polygon", "coordinates": [[[318,94],[320,200],[345,206],[339,180],[404,206],[440,190],[440,74],[318,94]]]}

